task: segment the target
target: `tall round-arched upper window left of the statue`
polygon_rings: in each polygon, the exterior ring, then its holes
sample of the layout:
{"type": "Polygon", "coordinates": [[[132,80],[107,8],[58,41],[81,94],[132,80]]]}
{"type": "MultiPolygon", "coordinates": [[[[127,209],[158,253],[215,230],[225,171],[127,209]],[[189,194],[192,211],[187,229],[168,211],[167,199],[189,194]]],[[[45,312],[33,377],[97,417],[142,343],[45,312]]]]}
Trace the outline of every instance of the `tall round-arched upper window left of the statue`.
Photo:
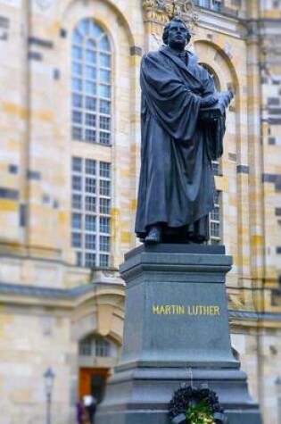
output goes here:
{"type": "Polygon", "coordinates": [[[79,22],[72,34],[72,139],[111,144],[111,44],[95,21],[79,22]]]}

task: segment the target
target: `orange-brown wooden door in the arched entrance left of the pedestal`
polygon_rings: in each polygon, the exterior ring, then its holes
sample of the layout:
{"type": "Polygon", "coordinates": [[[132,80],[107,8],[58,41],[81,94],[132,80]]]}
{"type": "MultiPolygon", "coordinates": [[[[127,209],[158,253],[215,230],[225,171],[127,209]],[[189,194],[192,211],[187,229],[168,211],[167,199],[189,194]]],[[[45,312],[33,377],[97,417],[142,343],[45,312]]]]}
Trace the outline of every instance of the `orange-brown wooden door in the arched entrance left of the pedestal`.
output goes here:
{"type": "Polygon", "coordinates": [[[79,398],[85,395],[93,395],[97,403],[101,402],[108,376],[109,369],[107,368],[80,368],[79,398]]]}

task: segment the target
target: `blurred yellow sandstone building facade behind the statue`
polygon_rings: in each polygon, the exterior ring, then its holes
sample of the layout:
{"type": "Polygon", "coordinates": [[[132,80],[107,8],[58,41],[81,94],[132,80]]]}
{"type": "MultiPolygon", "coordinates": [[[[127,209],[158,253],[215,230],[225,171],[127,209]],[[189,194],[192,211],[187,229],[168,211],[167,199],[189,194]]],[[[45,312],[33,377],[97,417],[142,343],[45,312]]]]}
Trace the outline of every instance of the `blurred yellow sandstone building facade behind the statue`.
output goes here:
{"type": "Polygon", "coordinates": [[[180,14],[220,90],[211,242],[234,257],[232,343],[281,422],[281,34],[274,0],[0,0],[0,423],[75,422],[122,343],[118,267],[136,246],[139,64],[180,14]]]}

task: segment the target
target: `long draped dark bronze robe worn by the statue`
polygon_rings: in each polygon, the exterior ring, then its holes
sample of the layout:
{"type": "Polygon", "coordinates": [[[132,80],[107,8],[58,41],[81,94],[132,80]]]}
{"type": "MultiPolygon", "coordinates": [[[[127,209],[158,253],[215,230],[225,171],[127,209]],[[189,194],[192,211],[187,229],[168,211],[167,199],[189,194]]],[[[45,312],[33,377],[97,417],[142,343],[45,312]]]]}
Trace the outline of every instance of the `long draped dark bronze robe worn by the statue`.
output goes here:
{"type": "Polygon", "coordinates": [[[200,98],[215,91],[213,79],[186,52],[187,64],[169,46],[141,63],[141,171],[136,235],[164,229],[196,231],[208,238],[214,178],[211,160],[222,153],[224,119],[200,121],[200,98]]]}

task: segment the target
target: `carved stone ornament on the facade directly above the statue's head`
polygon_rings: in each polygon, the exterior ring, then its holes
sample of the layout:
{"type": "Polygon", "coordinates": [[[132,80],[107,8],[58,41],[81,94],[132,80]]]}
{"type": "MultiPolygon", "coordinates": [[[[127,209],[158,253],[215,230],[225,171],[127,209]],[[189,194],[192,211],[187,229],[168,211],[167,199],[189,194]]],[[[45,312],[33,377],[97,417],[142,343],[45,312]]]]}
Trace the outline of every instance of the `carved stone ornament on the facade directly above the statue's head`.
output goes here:
{"type": "Polygon", "coordinates": [[[199,15],[190,0],[143,0],[145,21],[166,23],[175,16],[180,17],[189,28],[199,20],[199,15]]]}

